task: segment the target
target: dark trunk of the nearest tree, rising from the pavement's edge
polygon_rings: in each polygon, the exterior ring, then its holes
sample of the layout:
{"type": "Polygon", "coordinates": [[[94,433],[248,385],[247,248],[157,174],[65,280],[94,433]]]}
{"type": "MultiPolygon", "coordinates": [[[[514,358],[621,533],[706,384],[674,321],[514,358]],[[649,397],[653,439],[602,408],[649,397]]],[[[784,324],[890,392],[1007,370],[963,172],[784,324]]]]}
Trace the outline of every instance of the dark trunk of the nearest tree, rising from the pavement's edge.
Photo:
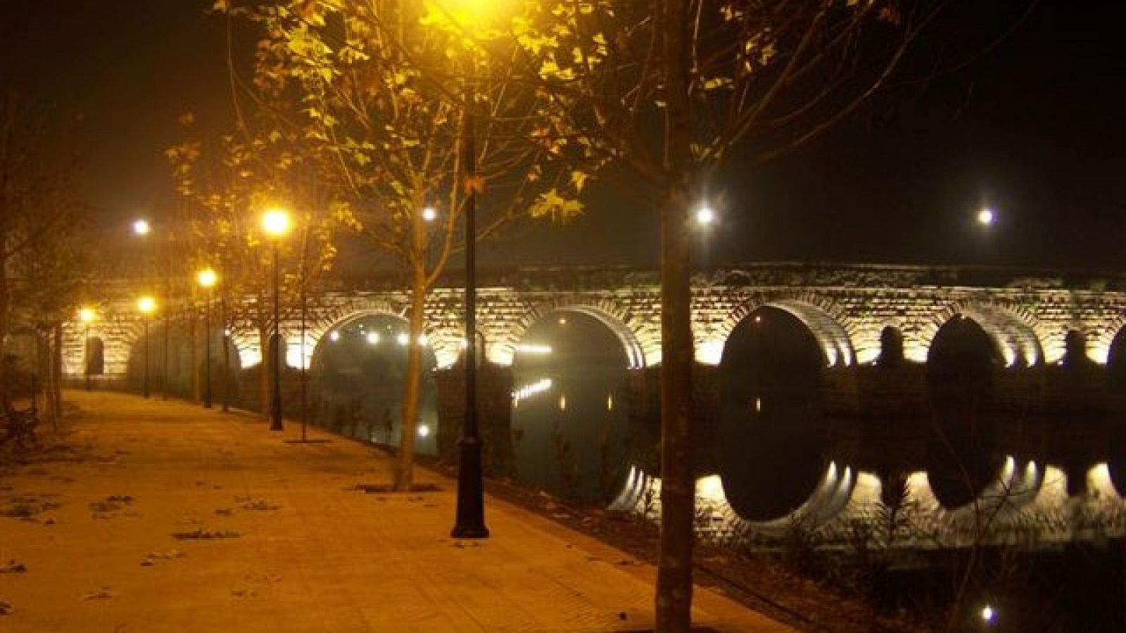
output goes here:
{"type": "Polygon", "coordinates": [[[691,371],[688,195],[687,7],[661,3],[665,196],[661,203],[661,544],[656,572],[659,633],[687,633],[692,603],[691,371]]]}

